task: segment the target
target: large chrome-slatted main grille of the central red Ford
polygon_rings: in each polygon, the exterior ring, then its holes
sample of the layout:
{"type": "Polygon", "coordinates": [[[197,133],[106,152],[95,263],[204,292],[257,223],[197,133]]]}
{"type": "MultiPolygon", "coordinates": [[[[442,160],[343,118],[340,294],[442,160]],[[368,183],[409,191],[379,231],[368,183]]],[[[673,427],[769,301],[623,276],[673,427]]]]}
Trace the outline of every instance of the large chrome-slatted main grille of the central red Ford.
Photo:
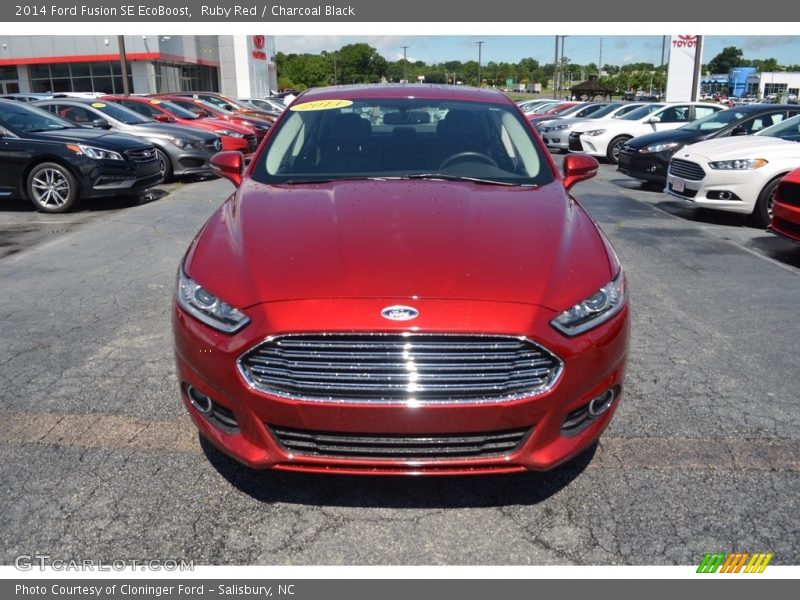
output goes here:
{"type": "Polygon", "coordinates": [[[511,336],[314,334],[272,338],[239,359],[256,389],[298,400],[451,404],[547,391],[561,361],[511,336]]]}

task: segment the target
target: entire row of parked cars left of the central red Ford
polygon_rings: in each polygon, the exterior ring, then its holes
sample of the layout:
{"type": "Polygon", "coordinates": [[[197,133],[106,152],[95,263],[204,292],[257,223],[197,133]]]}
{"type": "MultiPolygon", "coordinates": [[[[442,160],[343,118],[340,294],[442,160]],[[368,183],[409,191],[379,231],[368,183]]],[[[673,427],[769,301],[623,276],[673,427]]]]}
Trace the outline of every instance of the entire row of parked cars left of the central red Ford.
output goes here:
{"type": "Polygon", "coordinates": [[[215,153],[252,156],[278,115],[272,103],[211,92],[13,94],[0,99],[0,197],[26,197],[55,213],[82,198],[213,176],[215,153]]]}

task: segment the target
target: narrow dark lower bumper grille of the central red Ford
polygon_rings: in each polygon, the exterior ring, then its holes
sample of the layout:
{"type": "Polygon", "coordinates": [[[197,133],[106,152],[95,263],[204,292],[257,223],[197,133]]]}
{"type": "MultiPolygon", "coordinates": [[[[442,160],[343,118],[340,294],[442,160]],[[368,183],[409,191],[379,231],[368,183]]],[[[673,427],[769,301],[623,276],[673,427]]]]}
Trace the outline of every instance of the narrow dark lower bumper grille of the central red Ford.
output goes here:
{"type": "Polygon", "coordinates": [[[363,434],[268,426],[288,452],[331,458],[439,460],[511,454],[530,429],[457,434],[363,434]]]}

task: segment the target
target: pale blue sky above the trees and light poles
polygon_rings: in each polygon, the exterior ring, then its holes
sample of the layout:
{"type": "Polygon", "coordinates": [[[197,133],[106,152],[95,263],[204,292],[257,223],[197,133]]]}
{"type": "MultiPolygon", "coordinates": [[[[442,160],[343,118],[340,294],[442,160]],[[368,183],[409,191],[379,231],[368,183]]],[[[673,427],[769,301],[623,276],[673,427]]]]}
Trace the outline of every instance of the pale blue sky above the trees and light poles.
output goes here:
{"type": "MultiPolygon", "coordinates": [[[[604,64],[661,64],[660,35],[571,35],[564,42],[564,55],[573,63],[597,63],[600,60],[601,40],[604,64]]],[[[345,44],[365,42],[391,61],[403,58],[402,46],[408,46],[408,60],[434,64],[448,60],[477,60],[477,41],[484,42],[481,47],[482,64],[489,61],[513,63],[528,56],[545,64],[552,63],[555,56],[555,37],[552,35],[279,35],[275,37],[275,46],[279,52],[318,53],[322,50],[337,50],[345,44]]],[[[792,35],[706,35],[703,37],[703,62],[708,62],[727,46],[741,48],[747,59],[776,58],[782,65],[800,64],[800,36],[792,35]]]]}

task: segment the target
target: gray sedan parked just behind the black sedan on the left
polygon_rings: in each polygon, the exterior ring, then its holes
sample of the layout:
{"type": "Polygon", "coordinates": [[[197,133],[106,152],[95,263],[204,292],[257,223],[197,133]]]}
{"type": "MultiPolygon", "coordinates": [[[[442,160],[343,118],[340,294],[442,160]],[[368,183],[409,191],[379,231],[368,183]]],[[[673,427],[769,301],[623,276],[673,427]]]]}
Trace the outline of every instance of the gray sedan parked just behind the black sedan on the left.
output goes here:
{"type": "Polygon", "coordinates": [[[213,133],[159,123],[113,102],[58,98],[34,105],[76,125],[112,129],[146,139],[156,147],[165,181],[172,176],[211,175],[208,161],[222,149],[219,137],[213,133]]]}

